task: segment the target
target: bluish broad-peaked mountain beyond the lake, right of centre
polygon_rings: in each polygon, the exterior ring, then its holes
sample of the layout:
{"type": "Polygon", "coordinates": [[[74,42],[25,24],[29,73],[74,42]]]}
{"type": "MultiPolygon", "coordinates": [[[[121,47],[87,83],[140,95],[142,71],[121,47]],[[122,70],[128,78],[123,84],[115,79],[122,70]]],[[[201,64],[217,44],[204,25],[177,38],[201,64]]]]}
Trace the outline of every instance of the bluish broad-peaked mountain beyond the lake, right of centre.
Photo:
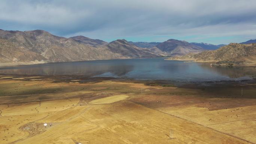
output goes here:
{"type": "Polygon", "coordinates": [[[170,39],[162,42],[153,48],[166,52],[168,56],[180,56],[187,53],[198,53],[204,51],[200,46],[193,45],[186,41],[170,39]]]}

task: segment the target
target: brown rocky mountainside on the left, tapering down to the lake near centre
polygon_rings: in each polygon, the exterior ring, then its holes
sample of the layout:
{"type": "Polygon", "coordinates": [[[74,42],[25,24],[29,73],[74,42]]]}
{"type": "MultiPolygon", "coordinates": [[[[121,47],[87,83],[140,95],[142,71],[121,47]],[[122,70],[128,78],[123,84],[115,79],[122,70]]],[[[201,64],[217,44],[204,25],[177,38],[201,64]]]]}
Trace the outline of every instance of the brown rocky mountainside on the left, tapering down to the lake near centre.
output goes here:
{"type": "Polygon", "coordinates": [[[58,37],[43,30],[0,30],[0,63],[27,64],[160,56],[128,42],[117,42],[107,43],[83,36],[58,37]]]}

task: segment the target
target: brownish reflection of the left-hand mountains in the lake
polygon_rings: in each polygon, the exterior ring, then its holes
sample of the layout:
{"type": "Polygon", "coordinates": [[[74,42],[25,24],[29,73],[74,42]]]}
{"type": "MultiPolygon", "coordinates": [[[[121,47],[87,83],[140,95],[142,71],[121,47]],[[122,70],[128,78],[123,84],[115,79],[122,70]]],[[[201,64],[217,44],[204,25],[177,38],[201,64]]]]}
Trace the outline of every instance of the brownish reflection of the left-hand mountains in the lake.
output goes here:
{"type": "Polygon", "coordinates": [[[133,65],[104,62],[61,62],[40,65],[21,65],[0,68],[1,74],[26,75],[83,75],[95,76],[103,73],[113,73],[122,76],[132,71],[133,65]]]}

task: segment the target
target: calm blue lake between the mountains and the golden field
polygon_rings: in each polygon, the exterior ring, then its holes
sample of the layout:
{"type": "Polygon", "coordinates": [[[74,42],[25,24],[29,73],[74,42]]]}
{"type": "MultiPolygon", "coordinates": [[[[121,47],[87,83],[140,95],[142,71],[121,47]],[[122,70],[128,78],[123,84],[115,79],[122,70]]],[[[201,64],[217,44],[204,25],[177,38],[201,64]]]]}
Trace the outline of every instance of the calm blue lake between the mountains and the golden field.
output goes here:
{"type": "Polygon", "coordinates": [[[83,75],[175,82],[250,80],[256,77],[256,68],[254,67],[210,66],[209,63],[164,59],[112,59],[5,66],[0,67],[0,74],[83,75]]]}

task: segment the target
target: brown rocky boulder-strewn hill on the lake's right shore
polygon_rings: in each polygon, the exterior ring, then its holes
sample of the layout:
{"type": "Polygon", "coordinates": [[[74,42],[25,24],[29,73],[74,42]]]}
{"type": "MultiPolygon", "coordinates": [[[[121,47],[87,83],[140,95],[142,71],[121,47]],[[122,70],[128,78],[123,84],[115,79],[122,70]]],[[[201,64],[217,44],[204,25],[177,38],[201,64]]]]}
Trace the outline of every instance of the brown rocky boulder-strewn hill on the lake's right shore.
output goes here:
{"type": "Polygon", "coordinates": [[[168,60],[188,60],[197,62],[215,62],[217,65],[256,66],[256,43],[230,43],[217,50],[201,53],[189,53],[168,60]]]}

